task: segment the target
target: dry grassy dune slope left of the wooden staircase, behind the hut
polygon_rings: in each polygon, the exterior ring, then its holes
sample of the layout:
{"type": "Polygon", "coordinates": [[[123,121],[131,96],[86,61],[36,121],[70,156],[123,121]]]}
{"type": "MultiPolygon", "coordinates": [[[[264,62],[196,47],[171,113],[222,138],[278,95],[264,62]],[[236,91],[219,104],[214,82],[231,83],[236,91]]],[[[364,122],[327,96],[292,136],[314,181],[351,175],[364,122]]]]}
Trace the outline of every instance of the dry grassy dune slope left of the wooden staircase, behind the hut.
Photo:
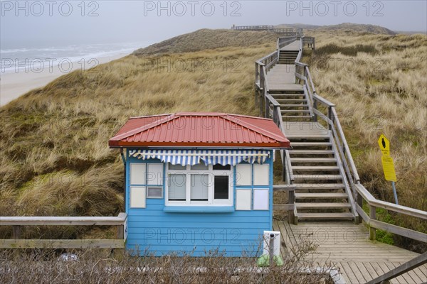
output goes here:
{"type": "MultiPolygon", "coordinates": [[[[183,35],[174,39],[176,44],[166,45],[161,55],[129,55],[75,71],[2,107],[0,214],[122,212],[122,160],[117,150],[108,148],[108,139],[130,116],[176,111],[257,115],[253,62],[275,48],[276,36],[263,34],[261,43],[256,32],[183,35]],[[187,46],[193,52],[169,53],[168,48],[174,50],[189,37],[195,42],[216,38],[212,45],[216,49],[204,45],[194,51],[187,46]],[[231,38],[232,46],[217,48],[231,38]],[[252,40],[258,44],[250,46],[252,40]]],[[[42,236],[87,233],[69,230],[56,228],[42,236]]]]}

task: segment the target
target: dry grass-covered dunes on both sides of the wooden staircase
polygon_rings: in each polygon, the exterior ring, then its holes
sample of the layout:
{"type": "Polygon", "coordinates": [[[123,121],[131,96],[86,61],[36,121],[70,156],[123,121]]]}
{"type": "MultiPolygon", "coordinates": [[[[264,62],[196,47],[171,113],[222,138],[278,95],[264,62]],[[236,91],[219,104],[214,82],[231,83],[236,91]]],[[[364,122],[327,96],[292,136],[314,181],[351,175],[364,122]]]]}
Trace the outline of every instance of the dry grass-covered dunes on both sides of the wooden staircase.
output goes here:
{"type": "MultiPolygon", "coordinates": [[[[391,140],[399,201],[426,210],[426,35],[312,35],[318,53],[305,60],[318,92],[337,104],[364,185],[381,200],[393,200],[376,144],[384,133],[391,140]],[[349,61],[357,63],[354,70],[335,70],[349,61]]],[[[253,62],[274,50],[276,36],[196,31],[64,75],[1,107],[0,214],[116,215],[123,210],[122,161],[107,147],[108,138],[130,116],[258,115],[253,62]]],[[[426,229],[413,220],[394,222],[426,229]]],[[[90,233],[68,230],[42,236],[90,233]]]]}

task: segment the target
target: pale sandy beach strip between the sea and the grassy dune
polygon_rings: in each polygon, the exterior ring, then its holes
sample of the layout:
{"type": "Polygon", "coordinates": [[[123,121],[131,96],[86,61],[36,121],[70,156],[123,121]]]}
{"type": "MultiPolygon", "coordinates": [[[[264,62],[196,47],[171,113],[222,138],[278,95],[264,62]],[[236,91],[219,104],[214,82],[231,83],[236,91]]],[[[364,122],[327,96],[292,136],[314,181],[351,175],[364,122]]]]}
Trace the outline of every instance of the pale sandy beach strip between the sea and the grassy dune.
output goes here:
{"type": "MultiPolygon", "coordinates": [[[[122,58],[126,55],[127,53],[120,53],[117,55],[96,58],[96,65],[110,62],[111,60],[122,58]]],[[[93,67],[95,63],[93,63],[92,65],[86,63],[86,65],[87,67],[85,69],[93,67]]],[[[68,68],[68,66],[66,68],[68,68]]],[[[51,70],[46,67],[43,68],[41,72],[38,72],[38,70],[35,70],[37,72],[33,70],[19,70],[18,72],[1,72],[0,106],[4,106],[8,102],[11,102],[12,100],[20,97],[22,94],[31,91],[31,89],[43,87],[48,84],[48,82],[51,82],[52,80],[62,75],[68,74],[73,70],[78,70],[79,68],[83,68],[82,65],[78,64],[78,62],[73,62],[73,67],[70,68],[70,70],[66,70],[66,72],[60,70],[60,67],[55,64],[53,64],[53,68],[51,70]]]]}

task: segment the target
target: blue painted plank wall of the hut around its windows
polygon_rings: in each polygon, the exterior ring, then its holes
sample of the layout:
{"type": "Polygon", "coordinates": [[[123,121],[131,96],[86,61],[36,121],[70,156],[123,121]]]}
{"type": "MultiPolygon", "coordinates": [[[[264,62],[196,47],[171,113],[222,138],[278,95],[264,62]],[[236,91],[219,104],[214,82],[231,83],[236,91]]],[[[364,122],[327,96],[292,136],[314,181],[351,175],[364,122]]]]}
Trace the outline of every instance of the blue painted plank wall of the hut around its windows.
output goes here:
{"type": "MultiPolygon", "coordinates": [[[[272,157],[273,151],[270,152],[272,157]]],[[[130,163],[160,163],[159,160],[139,160],[127,153],[126,163],[126,248],[135,254],[156,256],[191,253],[205,256],[218,250],[225,256],[260,256],[263,251],[263,231],[272,229],[273,219],[273,159],[270,164],[269,210],[228,212],[164,212],[165,192],[162,199],[146,200],[146,208],[130,208],[130,163]]],[[[236,175],[233,175],[235,177],[236,175]]],[[[163,190],[165,190],[165,177],[163,190]]],[[[233,187],[236,206],[236,181],[233,187]]],[[[249,188],[241,186],[237,188],[249,188]]],[[[252,188],[266,188],[256,186],[252,188]]],[[[253,196],[253,195],[252,195],[253,196]]],[[[189,208],[189,207],[186,207],[189,208]]],[[[191,208],[190,208],[191,209],[191,208]]],[[[220,208],[212,208],[221,210],[220,208]]],[[[233,208],[231,208],[233,210],[233,208]]]]}

